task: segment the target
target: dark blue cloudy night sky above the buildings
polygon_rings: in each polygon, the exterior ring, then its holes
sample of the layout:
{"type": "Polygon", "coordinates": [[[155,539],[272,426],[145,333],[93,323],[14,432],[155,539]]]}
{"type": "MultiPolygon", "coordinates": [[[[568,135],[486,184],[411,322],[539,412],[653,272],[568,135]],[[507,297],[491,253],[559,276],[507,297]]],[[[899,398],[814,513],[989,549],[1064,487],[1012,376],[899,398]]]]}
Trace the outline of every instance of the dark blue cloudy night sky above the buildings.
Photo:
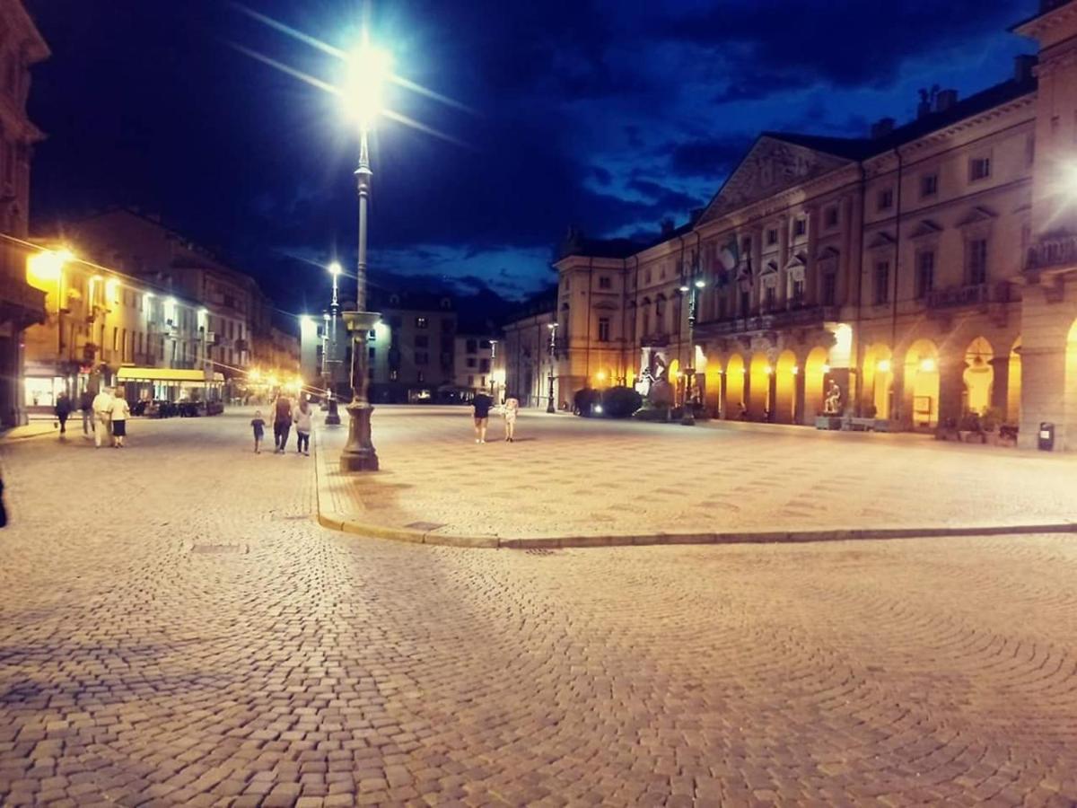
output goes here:
{"type": "MultiPolygon", "coordinates": [[[[137,206],[213,245],[277,305],[318,310],[334,255],[354,261],[354,127],[321,80],[342,62],[224,0],[28,0],[53,50],[38,66],[33,229],[137,206]]],[[[359,0],[250,0],[331,45],[359,0]]],[[[432,276],[521,297],[554,280],[570,224],[654,233],[705,205],[764,129],[863,136],[910,120],[919,87],[962,97],[1033,52],[1006,28],[1036,0],[381,0],[395,72],[374,141],[375,282],[432,276]]]]}

